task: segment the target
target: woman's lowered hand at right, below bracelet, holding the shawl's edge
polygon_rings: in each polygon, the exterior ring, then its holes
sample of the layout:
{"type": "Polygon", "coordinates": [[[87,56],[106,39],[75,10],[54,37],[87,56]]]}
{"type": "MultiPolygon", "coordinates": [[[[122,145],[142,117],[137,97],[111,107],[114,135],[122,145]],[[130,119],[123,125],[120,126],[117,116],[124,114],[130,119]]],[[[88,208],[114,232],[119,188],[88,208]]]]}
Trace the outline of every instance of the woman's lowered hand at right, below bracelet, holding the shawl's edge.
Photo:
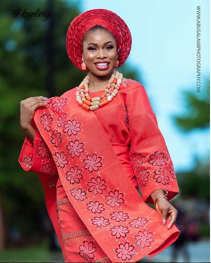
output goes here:
{"type": "Polygon", "coordinates": [[[159,214],[162,214],[163,225],[166,225],[167,219],[169,219],[168,229],[175,224],[177,218],[177,209],[174,208],[166,198],[160,197],[156,200],[155,209],[159,214]]]}

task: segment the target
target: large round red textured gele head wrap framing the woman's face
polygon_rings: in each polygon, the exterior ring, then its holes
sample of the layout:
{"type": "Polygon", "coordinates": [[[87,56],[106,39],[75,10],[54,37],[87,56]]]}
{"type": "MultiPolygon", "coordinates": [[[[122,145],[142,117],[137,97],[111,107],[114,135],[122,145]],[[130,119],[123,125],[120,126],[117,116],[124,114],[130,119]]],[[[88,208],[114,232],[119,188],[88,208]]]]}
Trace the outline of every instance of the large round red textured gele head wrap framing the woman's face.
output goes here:
{"type": "Polygon", "coordinates": [[[129,56],[132,38],[127,24],[117,14],[106,9],[86,11],[72,20],[66,36],[67,54],[72,63],[82,69],[82,41],[86,32],[100,25],[113,34],[117,42],[119,65],[123,65],[129,56]]]}

